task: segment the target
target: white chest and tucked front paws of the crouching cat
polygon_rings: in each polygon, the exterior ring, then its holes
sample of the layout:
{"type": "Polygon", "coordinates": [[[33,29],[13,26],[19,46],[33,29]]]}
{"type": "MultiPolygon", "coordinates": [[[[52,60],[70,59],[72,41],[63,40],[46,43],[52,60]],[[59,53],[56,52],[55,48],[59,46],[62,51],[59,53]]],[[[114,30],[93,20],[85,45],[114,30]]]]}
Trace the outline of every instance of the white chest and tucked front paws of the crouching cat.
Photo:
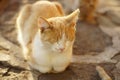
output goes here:
{"type": "Polygon", "coordinates": [[[72,47],[64,53],[56,53],[51,50],[49,45],[43,45],[40,35],[37,33],[32,43],[32,56],[36,63],[30,65],[42,73],[61,72],[69,65],[72,57],[72,47]]]}

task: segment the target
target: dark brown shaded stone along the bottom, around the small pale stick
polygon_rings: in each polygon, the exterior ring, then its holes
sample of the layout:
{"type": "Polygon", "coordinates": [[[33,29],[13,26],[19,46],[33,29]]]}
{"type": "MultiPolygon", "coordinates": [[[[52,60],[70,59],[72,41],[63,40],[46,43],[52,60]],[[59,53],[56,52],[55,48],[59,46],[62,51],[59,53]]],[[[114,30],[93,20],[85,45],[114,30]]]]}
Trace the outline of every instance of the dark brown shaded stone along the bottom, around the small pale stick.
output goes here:
{"type": "Polygon", "coordinates": [[[42,74],[38,80],[101,80],[96,65],[101,65],[105,71],[113,78],[112,69],[114,64],[71,64],[69,68],[58,74],[42,74]]]}

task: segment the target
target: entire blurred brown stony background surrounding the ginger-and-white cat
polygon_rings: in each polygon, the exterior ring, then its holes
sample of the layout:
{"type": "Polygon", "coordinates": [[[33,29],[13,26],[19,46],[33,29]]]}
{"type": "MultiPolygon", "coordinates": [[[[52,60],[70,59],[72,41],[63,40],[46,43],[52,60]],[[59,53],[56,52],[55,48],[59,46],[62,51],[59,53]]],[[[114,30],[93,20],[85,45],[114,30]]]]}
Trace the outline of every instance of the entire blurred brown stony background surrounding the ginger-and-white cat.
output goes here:
{"type": "MultiPolygon", "coordinates": [[[[26,63],[20,58],[15,23],[23,5],[36,1],[0,0],[0,56],[6,54],[11,57],[10,60],[6,55],[0,57],[0,80],[8,80],[11,76],[13,79],[9,80],[31,80],[30,71],[18,68],[24,67],[26,63]],[[7,63],[1,61],[3,58],[6,58],[7,63]]],[[[66,15],[80,9],[73,63],[68,70],[57,75],[32,73],[37,77],[36,80],[100,80],[96,65],[105,68],[113,80],[120,80],[120,0],[49,1],[61,3],[66,15]]]]}

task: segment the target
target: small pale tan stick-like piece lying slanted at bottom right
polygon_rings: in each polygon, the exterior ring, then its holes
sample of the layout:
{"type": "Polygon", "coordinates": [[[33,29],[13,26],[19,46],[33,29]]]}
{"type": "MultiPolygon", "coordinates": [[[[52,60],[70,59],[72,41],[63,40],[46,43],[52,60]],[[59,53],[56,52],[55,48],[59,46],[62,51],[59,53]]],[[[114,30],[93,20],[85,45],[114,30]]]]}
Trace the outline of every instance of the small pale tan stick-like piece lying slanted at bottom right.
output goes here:
{"type": "Polygon", "coordinates": [[[96,66],[96,70],[102,80],[112,80],[102,67],[96,66]]]}

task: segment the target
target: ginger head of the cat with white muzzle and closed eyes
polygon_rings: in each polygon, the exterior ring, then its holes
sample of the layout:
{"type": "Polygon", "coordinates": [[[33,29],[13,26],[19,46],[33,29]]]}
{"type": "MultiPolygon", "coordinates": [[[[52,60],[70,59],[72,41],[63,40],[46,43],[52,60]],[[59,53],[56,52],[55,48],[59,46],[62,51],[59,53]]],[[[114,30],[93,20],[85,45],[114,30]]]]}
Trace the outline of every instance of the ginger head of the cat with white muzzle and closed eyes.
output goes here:
{"type": "Polygon", "coordinates": [[[55,52],[64,52],[71,48],[75,39],[75,25],[79,9],[68,16],[39,18],[38,27],[41,41],[55,52]]]}

